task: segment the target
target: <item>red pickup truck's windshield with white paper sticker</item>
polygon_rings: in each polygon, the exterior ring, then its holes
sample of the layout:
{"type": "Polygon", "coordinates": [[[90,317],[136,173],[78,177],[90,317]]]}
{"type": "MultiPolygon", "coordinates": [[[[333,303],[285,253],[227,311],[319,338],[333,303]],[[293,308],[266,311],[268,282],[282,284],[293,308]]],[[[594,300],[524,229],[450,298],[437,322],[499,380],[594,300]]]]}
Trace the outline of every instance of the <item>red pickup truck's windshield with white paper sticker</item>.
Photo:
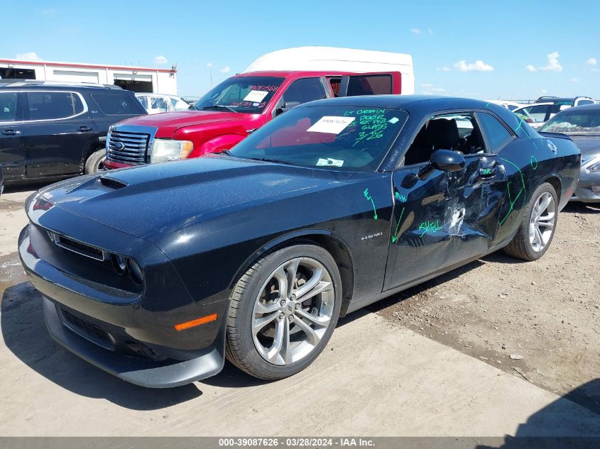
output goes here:
{"type": "Polygon", "coordinates": [[[285,78],[231,77],[210,89],[191,109],[262,113],[285,78]]]}

